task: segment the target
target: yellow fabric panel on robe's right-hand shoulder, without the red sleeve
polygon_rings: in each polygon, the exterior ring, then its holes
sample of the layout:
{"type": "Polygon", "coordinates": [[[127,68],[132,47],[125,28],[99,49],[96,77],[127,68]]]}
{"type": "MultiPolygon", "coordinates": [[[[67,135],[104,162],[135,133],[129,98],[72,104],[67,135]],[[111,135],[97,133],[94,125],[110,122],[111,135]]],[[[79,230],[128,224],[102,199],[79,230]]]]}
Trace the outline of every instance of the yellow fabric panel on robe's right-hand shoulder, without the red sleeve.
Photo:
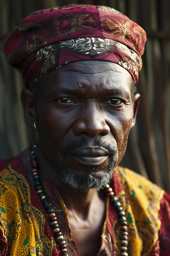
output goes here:
{"type": "MultiPolygon", "coordinates": [[[[117,167],[115,174],[123,186],[123,190],[117,192],[128,221],[129,255],[156,255],[152,254],[152,249],[157,243],[161,227],[158,214],[164,191],[127,168],[117,167]]],[[[119,241],[118,236],[115,240],[119,241]]]]}

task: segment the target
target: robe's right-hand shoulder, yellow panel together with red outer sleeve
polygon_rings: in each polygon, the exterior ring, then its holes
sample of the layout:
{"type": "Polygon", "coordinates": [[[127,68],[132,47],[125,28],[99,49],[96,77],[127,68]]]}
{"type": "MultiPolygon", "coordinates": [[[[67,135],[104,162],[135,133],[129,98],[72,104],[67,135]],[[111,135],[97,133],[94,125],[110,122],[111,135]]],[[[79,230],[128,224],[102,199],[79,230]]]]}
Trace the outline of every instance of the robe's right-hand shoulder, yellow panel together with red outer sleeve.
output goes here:
{"type": "Polygon", "coordinates": [[[161,255],[169,255],[170,195],[146,177],[128,168],[118,166],[113,180],[118,198],[122,200],[124,197],[124,211],[128,223],[143,240],[143,250],[148,253],[147,248],[156,246],[159,240],[161,255]],[[121,190],[117,184],[121,186],[121,190]]]}

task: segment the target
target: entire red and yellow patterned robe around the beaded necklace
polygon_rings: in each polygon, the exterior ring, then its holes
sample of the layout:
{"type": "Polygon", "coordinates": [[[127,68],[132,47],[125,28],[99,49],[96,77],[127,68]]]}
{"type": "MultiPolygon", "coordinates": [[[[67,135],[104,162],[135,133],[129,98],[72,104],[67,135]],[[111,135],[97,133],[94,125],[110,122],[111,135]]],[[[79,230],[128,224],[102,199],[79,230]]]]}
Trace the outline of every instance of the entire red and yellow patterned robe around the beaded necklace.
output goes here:
{"type": "MultiPolygon", "coordinates": [[[[29,150],[27,153],[0,161],[0,255],[60,256],[33,185],[29,150]]],[[[118,166],[113,175],[111,186],[128,222],[128,255],[170,256],[170,195],[126,168],[118,166]]],[[[78,256],[64,202],[49,181],[45,185],[57,211],[68,255],[78,256]]],[[[110,202],[106,205],[102,245],[97,255],[118,256],[117,213],[110,202]]]]}

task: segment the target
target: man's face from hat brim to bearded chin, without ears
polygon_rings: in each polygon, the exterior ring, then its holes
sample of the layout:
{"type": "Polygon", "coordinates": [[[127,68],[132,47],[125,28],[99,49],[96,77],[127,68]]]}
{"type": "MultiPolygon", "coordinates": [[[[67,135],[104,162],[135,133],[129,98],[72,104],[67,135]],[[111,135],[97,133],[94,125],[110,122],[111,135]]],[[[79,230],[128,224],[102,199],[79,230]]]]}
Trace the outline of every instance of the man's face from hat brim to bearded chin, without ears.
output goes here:
{"type": "Polygon", "coordinates": [[[38,146],[73,189],[100,189],[112,178],[132,126],[132,84],[107,61],[70,63],[40,80],[38,146]]]}

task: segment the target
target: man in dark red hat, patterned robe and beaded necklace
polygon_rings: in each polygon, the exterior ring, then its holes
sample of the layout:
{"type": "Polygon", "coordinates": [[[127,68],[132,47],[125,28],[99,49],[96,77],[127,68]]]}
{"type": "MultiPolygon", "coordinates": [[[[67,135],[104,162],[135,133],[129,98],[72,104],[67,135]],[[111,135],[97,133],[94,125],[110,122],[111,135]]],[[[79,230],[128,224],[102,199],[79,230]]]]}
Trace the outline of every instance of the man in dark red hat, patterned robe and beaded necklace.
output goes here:
{"type": "Polygon", "coordinates": [[[170,255],[170,196],[118,166],[145,41],[115,9],[74,4],[31,13],[9,36],[38,145],[0,162],[1,255],[170,255]]]}

